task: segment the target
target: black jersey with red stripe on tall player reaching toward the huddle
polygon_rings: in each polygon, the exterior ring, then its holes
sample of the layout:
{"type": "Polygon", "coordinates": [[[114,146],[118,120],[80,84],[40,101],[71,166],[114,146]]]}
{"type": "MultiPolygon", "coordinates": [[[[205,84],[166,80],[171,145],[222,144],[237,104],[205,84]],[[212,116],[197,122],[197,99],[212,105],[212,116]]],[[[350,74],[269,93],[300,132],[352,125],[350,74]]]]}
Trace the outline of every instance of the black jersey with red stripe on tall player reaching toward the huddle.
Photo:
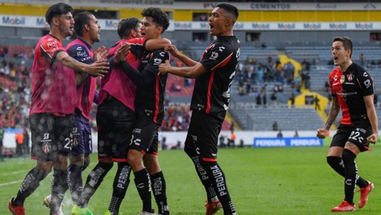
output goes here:
{"type": "Polygon", "coordinates": [[[207,72],[195,79],[191,110],[225,118],[239,58],[240,41],[235,36],[218,37],[205,49],[200,63],[207,72]]]}

